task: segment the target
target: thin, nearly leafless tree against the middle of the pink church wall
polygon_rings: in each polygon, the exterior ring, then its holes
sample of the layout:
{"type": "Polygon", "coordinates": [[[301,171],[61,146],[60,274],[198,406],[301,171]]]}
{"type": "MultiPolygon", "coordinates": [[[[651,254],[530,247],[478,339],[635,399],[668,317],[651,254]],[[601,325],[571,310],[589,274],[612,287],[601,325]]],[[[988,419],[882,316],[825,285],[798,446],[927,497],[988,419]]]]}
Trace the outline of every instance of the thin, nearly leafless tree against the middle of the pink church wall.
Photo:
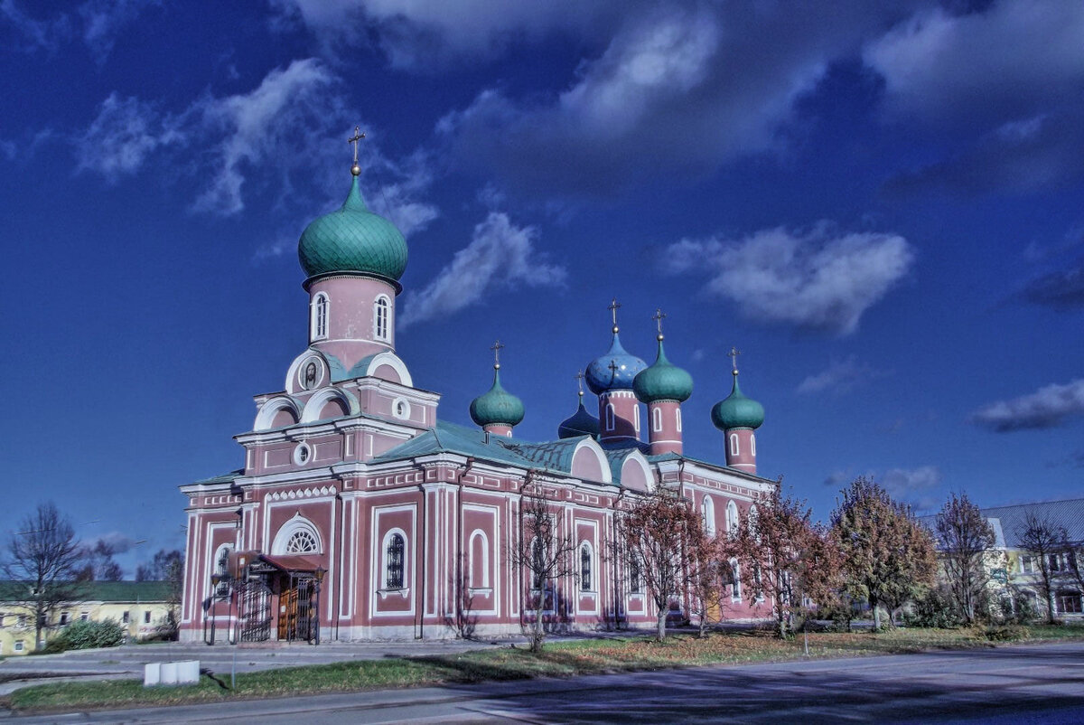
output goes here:
{"type": "Polygon", "coordinates": [[[531,651],[542,651],[545,641],[547,599],[556,609],[558,593],[554,582],[575,575],[576,542],[570,532],[562,533],[555,511],[539,484],[525,483],[519,508],[519,538],[509,551],[512,565],[527,574],[527,595],[534,610],[531,626],[531,651]]]}

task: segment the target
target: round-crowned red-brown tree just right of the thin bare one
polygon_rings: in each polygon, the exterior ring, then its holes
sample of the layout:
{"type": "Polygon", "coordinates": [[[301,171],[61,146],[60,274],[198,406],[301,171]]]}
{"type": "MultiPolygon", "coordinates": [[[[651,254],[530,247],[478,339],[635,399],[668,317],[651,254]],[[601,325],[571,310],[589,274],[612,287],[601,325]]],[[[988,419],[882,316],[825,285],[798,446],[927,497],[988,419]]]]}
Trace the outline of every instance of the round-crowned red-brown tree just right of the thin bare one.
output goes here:
{"type": "Polygon", "coordinates": [[[709,537],[700,514],[671,491],[637,498],[615,519],[619,550],[640,572],[655,602],[657,638],[667,636],[670,601],[696,588],[709,565],[709,537]]]}

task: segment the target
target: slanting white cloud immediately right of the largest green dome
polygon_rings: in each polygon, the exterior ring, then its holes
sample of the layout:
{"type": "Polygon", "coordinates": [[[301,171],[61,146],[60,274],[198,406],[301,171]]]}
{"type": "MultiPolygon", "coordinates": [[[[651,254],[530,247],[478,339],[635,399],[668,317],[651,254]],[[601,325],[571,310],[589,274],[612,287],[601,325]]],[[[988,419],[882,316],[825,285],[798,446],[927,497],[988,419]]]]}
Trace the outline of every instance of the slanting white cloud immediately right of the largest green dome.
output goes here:
{"type": "Polygon", "coordinates": [[[451,315],[502,287],[564,284],[567,271],[535,254],[537,240],[534,227],[517,227],[506,214],[491,212],[475,227],[470,243],[431,282],[405,296],[400,323],[451,315]]]}

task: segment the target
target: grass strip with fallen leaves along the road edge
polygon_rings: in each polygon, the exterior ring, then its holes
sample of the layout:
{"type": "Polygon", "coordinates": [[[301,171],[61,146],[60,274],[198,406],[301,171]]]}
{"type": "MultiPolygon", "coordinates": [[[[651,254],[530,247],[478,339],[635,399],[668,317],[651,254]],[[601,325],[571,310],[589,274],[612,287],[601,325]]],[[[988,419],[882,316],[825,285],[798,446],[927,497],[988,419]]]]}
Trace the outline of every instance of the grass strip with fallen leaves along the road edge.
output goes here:
{"type": "MultiPolygon", "coordinates": [[[[1004,631],[892,629],[874,633],[811,633],[811,658],[918,652],[928,649],[991,647],[998,640],[1084,639],[1084,627],[1031,626],[1004,631]]],[[[712,633],[705,639],[678,634],[664,643],[643,636],[583,639],[547,645],[540,654],[522,647],[476,650],[461,654],[387,658],[288,667],[237,675],[235,690],[223,689],[209,677],[189,687],[144,688],[142,681],[57,683],[16,690],[8,705],[17,712],[88,708],[214,702],[224,699],[273,698],[315,692],[347,692],[539,676],[658,670],[699,664],[740,664],[804,659],[801,635],[780,640],[766,632],[712,633]]],[[[220,678],[221,675],[217,675],[220,678]]],[[[224,679],[229,682],[227,673],[224,679]]]]}

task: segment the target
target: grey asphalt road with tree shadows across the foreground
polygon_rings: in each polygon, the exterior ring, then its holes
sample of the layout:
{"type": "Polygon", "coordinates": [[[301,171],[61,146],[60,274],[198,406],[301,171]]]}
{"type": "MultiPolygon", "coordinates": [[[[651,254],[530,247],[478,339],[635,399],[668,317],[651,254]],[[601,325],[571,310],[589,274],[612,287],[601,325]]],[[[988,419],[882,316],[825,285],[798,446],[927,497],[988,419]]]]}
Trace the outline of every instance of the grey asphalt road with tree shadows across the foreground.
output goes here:
{"type": "Polygon", "coordinates": [[[1082,723],[1084,644],[13,717],[13,723],[1082,723]]]}

